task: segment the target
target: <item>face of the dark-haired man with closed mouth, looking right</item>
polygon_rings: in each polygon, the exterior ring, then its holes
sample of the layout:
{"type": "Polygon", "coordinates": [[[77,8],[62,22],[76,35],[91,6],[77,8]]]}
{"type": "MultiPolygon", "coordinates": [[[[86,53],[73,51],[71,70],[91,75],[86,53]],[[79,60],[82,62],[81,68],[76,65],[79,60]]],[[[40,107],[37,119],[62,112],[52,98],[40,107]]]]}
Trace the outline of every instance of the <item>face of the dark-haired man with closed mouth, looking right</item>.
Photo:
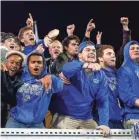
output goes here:
{"type": "Polygon", "coordinates": [[[76,40],[71,40],[69,45],[65,47],[67,53],[71,56],[78,54],[79,43],[76,40]]]}

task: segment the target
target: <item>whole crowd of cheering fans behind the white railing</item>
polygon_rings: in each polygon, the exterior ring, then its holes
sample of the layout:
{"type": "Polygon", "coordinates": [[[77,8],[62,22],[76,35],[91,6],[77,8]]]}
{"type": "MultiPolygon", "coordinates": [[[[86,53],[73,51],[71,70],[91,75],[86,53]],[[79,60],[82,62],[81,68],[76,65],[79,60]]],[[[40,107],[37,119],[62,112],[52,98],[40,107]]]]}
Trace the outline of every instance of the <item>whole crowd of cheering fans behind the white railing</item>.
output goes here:
{"type": "Polygon", "coordinates": [[[123,42],[90,39],[91,19],[82,41],[67,26],[37,36],[32,15],[18,36],[1,32],[1,127],[130,129],[139,122],[139,42],[131,40],[128,17],[120,19],[123,42]]]}

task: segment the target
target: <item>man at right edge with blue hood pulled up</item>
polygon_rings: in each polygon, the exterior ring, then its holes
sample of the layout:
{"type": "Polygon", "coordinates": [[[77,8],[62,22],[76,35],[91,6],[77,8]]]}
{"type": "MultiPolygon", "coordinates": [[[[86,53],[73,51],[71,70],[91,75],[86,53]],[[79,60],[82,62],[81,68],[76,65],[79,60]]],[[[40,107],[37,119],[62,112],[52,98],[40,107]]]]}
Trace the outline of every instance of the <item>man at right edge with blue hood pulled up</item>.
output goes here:
{"type": "Polygon", "coordinates": [[[124,128],[139,121],[139,43],[130,41],[124,47],[124,62],[118,70],[119,96],[123,102],[124,128]]]}

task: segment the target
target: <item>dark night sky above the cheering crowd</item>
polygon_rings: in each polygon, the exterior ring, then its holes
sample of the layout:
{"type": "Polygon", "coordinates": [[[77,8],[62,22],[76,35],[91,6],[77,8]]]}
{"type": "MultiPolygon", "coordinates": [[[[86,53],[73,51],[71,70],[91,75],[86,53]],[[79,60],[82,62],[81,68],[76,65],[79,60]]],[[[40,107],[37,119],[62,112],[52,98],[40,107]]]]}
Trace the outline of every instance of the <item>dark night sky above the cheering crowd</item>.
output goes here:
{"type": "Polygon", "coordinates": [[[139,2],[104,1],[15,1],[1,2],[1,31],[18,33],[25,26],[28,13],[37,20],[40,38],[48,31],[60,30],[59,39],[66,36],[66,26],[75,24],[75,34],[84,36],[89,19],[93,18],[96,29],[91,34],[95,42],[97,31],[102,31],[102,43],[111,44],[116,49],[122,43],[120,17],[129,17],[132,39],[139,41],[139,2]]]}

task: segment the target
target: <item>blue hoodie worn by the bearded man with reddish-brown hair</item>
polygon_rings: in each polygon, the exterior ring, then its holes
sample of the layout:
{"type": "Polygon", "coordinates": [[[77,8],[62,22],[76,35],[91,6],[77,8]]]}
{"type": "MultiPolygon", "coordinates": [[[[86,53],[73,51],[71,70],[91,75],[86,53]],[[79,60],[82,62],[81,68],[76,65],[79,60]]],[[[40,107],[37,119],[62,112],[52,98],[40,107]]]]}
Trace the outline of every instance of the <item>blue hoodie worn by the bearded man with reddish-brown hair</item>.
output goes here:
{"type": "Polygon", "coordinates": [[[118,103],[118,82],[116,73],[110,69],[102,69],[106,75],[108,81],[108,95],[109,95],[109,119],[111,121],[120,121],[121,118],[121,108],[118,103]]]}

